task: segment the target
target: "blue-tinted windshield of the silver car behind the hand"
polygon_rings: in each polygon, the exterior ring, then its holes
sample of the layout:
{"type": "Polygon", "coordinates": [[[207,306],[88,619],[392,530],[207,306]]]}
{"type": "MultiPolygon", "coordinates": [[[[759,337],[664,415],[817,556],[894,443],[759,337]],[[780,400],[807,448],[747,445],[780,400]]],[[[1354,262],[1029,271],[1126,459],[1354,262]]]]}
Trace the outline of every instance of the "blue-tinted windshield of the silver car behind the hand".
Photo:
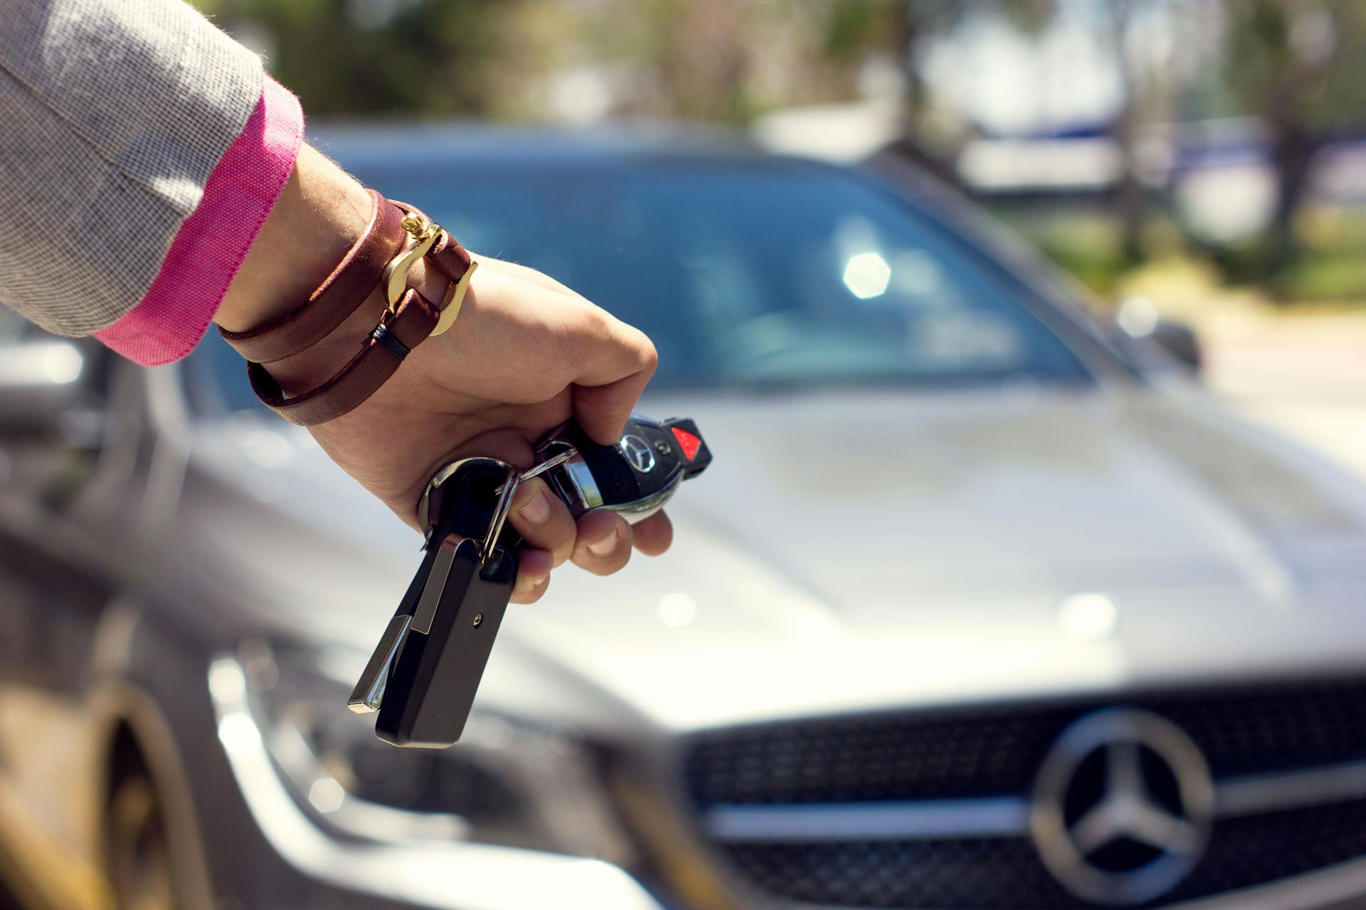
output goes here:
{"type": "MultiPolygon", "coordinates": [[[[851,172],[764,158],[458,171],[357,175],[645,330],[652,387],[1087,378],[1023,285],[851,172]]],[[[254,404],[240,363],[204,347],[229,405],[254,404]]]]}

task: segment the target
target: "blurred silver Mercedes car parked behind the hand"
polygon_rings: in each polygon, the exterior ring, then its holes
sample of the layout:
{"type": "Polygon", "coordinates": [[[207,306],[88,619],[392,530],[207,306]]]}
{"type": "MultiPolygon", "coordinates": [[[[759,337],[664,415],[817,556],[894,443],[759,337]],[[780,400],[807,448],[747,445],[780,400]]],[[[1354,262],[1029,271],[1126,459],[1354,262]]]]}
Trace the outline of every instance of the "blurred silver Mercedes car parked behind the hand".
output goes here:
{"type": "Polygon", "coordinates": [[[508,613],[456,748],[399,750],[346,700],[417,536],[217,340],[138,370],[11,326],[15,900],[1366,900],[1359,484],[918,183],[695,135],[324,147],[645,329],[641,409],[716,464],[668,555],[508,613]]]}

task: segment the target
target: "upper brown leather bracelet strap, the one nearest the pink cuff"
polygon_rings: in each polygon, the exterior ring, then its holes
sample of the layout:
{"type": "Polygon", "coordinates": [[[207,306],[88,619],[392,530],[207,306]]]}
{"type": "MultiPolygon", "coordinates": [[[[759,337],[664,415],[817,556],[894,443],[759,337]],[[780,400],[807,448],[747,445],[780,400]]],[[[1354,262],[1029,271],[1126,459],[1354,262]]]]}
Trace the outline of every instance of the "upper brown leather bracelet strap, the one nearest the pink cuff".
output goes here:
{"type": "Polygon", "coordinates": [[[238,353],[253,363],[292,357],[332,334],[365,303],[408,237],[403,229],[406,213],[374,190],[369,192],[374,209],[365,233],[302,306],[275,322],[246,332],[219,329],[238,353]]]}

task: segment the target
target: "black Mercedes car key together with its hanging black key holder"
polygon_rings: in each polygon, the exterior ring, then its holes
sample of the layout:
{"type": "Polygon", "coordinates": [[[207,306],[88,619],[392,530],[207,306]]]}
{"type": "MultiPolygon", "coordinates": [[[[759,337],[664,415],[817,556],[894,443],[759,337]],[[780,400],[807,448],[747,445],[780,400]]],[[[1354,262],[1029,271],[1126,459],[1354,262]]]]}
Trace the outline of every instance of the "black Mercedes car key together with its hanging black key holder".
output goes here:
{"type": "Polygon", "coordinates": [[[522,480],[544,473],[575,518],[611,509],[639,521],[712,463],[695,423],[641,415],[611,446],[570,422],[537,456],[527,472],[494,458],[454,461],[422,494],[426,555],[350,699],[352,711],[378,711],[380,739],[445,748],[460,738],[516,583],[520,536],[505,520],[522,480]]]}

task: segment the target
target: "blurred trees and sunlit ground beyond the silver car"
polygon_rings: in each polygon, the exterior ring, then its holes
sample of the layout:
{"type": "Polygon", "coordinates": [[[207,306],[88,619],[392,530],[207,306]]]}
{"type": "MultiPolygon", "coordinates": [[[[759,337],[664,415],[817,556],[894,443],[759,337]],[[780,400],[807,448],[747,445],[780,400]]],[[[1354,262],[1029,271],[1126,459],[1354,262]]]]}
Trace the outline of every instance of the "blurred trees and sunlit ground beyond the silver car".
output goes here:
{"type": "Polygon", "coordinates": [[[900,156],[1366,469],[1361,0],[195,0],[331,119],[688,120],[900,156]]]}

